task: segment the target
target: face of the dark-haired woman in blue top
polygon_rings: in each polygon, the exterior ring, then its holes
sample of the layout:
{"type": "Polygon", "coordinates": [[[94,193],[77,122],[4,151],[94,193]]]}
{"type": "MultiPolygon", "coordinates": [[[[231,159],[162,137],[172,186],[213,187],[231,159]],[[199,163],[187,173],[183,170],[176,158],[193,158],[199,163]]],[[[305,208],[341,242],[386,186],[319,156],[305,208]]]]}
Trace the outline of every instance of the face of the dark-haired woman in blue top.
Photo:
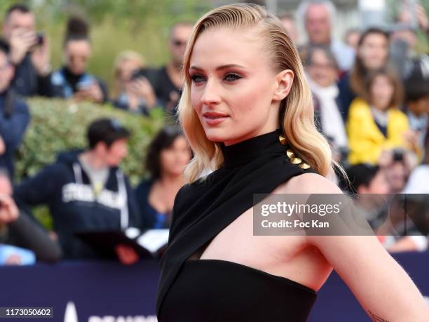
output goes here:
{"type": "Polygon", "coordinates": [[[189,145],[184,136],[178,136],[170,147],[161,150],[161,171],[170,175],[182,175],[189,160],[191,160],[189,145]]]}

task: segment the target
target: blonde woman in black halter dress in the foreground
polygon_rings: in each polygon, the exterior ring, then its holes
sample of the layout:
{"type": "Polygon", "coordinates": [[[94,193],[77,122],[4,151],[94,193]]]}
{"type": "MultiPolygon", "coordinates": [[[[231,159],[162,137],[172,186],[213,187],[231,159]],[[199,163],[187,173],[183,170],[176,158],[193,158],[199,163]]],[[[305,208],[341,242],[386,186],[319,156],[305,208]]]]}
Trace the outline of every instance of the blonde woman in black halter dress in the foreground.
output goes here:
{"type": "Polygon", "coordinates": [[[253,235],[255,193],[341,193],[278,18],[215,8],[193,28],[184,74],[179,120],[194,157],[161,262],[158,321],[306,321],[332,269],[374,321],[425,321],[423,297],[376,237],[253,235]]]}

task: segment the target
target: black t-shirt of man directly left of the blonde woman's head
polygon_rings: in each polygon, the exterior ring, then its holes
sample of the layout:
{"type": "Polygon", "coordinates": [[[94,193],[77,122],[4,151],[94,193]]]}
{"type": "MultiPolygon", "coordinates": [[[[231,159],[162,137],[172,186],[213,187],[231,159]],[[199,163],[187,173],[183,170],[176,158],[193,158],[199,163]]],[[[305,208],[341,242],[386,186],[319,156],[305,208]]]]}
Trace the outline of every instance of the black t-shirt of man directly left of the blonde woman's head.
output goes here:
{"type": "Polygon", "coordinates": [[[167,67],[146,69],[146,76],[154,88],[156,98],[165,110],[174,112],[180,98],[180,88],[177,88],[167,74],[167,67]]]}

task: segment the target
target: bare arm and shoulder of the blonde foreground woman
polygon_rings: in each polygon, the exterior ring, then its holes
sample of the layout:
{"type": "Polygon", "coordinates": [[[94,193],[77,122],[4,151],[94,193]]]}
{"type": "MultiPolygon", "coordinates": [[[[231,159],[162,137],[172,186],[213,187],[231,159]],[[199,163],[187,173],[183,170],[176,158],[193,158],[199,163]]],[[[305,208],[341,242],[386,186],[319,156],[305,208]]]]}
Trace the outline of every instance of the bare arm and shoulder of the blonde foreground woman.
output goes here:
{"type": "MultiPolygon", "coordinates": [[[[320,175],[290,182],[295,193],[341,194],[320,175]]],[[[429,308],[416,285],[375,236],[308,236],[341,276],[373,321],[423,322],[429,308]]]]}

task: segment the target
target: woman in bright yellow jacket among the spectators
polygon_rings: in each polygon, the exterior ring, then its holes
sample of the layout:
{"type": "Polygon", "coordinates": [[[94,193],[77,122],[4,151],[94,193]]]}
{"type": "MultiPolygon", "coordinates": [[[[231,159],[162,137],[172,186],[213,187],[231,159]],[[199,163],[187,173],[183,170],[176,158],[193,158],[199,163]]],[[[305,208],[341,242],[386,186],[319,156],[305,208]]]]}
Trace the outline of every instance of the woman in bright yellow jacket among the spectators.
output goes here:
{"type": "Polygon", "coordinates": [[[365,98],[350,105],[346,130],[351,164],[379,162],[384,149],[412,149],[414,135],[407,116],[398,109],[402,104],[402,83],[395,73],[379,69],[369,75],[365,98]]]}

